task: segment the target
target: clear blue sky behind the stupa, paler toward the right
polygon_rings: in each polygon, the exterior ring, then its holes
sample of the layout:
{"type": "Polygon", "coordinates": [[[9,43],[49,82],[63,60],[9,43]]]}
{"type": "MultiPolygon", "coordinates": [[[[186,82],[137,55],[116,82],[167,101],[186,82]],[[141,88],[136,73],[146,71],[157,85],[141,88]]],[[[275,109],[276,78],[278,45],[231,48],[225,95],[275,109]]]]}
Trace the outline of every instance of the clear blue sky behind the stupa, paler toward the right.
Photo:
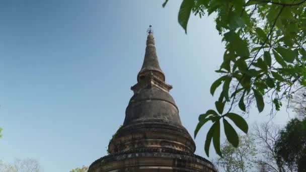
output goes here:
{"type": "MultiPolygon", "coordinates": [[[[69,171],[106,154],[141,67],[146,29],[183,125],[213,108],[223,45],[213,17],[177,22],[181,1],[28,0],[0,3],[0,160],[31,157],[44,171],[69,171]]],[[[255,109],[256,110],[256,109],[255,109]]],[[[251,111],[248,121],[267,120],[251,111]]],[[[288,115],[275,118],[284,124],[288,115]]],[[[204,157],[207,127],[196,138],[204,157]]],[[[211,149],[213,153],[214,150],[211,149]]],[[[212,157],[215,154],[212,155],[212,157]]]]}

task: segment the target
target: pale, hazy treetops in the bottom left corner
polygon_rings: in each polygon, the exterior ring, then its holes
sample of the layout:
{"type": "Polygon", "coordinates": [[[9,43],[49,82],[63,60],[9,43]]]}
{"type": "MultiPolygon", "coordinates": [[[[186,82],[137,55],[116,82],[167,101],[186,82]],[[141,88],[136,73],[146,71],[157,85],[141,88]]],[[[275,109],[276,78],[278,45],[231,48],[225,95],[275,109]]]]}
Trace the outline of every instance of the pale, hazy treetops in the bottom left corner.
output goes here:
{"type": "Polygon", "coordinates": [[[1,172],[42,172],[39,162],[33,158],[16,159],[14,164],[5,164],[0,161],[1,172]]]}

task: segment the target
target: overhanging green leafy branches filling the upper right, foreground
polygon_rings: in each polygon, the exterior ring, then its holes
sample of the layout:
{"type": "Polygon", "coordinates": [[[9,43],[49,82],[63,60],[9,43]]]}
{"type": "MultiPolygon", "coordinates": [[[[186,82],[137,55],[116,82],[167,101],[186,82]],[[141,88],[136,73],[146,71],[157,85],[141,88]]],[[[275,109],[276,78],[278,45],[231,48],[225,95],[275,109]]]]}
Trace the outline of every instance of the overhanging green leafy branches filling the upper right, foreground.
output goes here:
{"type": "MultiPolygon", "coordinates": [[[[289,102],[297,90],[305,87],[306,0],[183,0],[178,20],[186,33],[191,13],[200,18],[206,13],[208,16],[215,13],[216,29],[225,44],[223,62],[216,70],[222,76],[210,88],[213,96],[222,84],[215,102],[216,111],[210,110],[210,114],[199,118],[195,131],[196,136],[199,129],[211,121],[205,152],[208,155],[213,140],[221,156],[217,138],[220,133],[216,133],[220,132],[221,119],[228,141],[237,146],[235,129],[224,121],[226,117],[240,116],[230,115],[234,114],[232,110],[237,104],[240,110],[247,112],[256,102],[258,111],[262,112],[267,97],[273,115],[280,110],[283,100],[289,102]]],[[[248,132],[243,118],[230,119],[248,132]]]]}

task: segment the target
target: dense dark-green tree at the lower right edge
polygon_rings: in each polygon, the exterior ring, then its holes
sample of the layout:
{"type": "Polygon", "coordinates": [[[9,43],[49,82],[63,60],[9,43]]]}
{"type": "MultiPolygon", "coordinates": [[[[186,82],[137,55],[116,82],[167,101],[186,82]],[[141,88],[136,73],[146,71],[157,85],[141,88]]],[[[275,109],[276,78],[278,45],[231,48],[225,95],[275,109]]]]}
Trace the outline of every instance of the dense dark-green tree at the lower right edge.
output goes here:
{"type": "Polygon", "coordinates": [[[292,119],[281,130],[275,144],[277,162],[285,163],[290,171],[306,171],[306,119],[292,119]]]}

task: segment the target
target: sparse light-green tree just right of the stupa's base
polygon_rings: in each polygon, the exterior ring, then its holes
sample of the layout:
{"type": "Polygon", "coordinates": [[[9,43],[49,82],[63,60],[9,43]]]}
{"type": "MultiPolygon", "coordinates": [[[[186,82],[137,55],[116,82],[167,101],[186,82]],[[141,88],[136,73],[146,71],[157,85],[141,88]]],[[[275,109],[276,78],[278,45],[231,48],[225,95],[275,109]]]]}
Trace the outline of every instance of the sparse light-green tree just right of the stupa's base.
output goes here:
{"type": "Polygon", "coordinates": [[[249,136],[239,136],[240,144],[235,148],[230,142],[221,145],[222,157],[213,160],[218,170],[226,172],[244,172],[253,167],[256,156],[254,139],[249,136]]]}

